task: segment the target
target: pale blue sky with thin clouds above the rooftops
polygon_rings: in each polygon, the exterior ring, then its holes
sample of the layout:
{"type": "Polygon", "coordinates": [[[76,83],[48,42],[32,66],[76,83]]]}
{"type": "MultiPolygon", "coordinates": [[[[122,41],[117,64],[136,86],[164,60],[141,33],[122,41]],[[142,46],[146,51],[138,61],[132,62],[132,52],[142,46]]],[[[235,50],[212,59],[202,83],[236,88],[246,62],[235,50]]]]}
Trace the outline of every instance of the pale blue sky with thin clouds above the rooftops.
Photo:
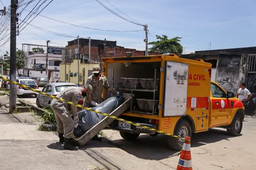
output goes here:
{"type": "MultiPolygon", "coordinates": [[[[211,42],[211,49],[239,48],[256,46],[256,13],[255,0],[108,0],[120,11],[142,24],[148,24],[150,41],[155,41],[155,35],[167,35],[169,38],[180,36],[181,45],[186,48],[186,53],[195,50],[207,50],[211,42]]],[[[5,6],[10,5],[10,0],[2,0],[5,6]]],[[[100,0],[113,11],[118,12],[107,1],[100,0]]],[[[2,4],[0,4],[2,9],[2,4]]],[[[31,8],[30,8],[31,9],[31,8]]],[[[26,16],[23,12],[21,19],[26,16]]],[[[41,15],[65,21],[68,23],[111,30],[143,30],[138,26],[116,17],[104,9],[95,0],[53,0],[41,15]]],[[[123,14],[121,14],[123,15],[123,14]]],[[[124,16],[124,15],[123,15],[124,16]]],[[[37,16],[31,24],[58,33],[80,37],[91,36],[92,39],[117,41],[117,45],[125,48],[144,50],[145,34],[141,32],[105,32],[94,31],[76,26],[59,23],[41,16],[37,16]]],[[[67,44],[75,38],[66,38],[41,32],[30,26],[28,29],[40,34],[53,42],[67,44]]],[[[35,35],[33,35],[35,37],[35,35]]],[[[33,44],[45,45],[45,40],[33,38],[24,30],[20,37],[33,44]]],[[[17,37],[17,47],[28,43],[17,37]]],[[[50,44],[56,46],[56,44],[50,44]]],[[[10,44],[6,44],[3,51],[9,51],[10,44]]],[[[1,54],[0,54],[1,55],[1,54]]]]}

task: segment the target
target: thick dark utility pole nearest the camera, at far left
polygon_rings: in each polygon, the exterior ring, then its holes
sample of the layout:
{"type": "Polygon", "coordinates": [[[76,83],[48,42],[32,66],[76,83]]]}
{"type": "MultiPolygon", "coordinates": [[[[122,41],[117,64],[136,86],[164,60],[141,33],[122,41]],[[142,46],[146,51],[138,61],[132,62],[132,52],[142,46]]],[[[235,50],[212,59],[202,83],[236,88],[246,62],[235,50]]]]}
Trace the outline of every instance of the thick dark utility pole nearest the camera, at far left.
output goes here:
{"type": "MultiPolygon", "coordinates": [[[[11,0],[11,37],[10,37],[10,79],[16,81],[16,10],[18,0],[11,0]]],[[[12,113],[16,107],[16,85],[10,83],[10,107],[12,113]]]]}

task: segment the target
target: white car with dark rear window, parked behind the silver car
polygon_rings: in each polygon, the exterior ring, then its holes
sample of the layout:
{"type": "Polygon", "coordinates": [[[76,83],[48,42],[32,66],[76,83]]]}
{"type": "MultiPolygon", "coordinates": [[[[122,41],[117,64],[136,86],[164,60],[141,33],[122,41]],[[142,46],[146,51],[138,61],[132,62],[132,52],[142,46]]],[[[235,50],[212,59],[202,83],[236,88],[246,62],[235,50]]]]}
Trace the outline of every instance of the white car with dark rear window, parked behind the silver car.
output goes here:
{"type": "MultiPolygon", "coordinates": [[[[36,82],[32,79],[19,78],[19,79],[16,80],[16,82],[18,82],[22,85],[26,85],[28,87],[31,87],[33,89],[39,89],[36,82]]],[[[37,94],[38,94],[37,92],[33,92],[31,90],[25,89],[23,87],[20,87],[19,85],[16,86],[16,91],[17,91],[17,97],[19,97],[20,95],[35,95],[35,97],[37,97],[37,94]]]]}

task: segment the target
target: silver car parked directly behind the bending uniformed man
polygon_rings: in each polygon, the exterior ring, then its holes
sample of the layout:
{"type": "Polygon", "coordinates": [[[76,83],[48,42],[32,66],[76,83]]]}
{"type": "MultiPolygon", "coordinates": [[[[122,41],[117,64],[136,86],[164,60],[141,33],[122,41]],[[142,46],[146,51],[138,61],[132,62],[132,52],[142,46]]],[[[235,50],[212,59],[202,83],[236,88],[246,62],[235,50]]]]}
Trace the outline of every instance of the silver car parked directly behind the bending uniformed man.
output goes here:
{"type": "MultiPolygon", "coordinates": [[[[78,87],[75,83],[50,83],[48,85],[45,85],[42,92],[45,92],[47,94],[57,96],[59,92],[64,90],[67,87],[74,86],[78,87]]],[[[36,105],[37,107],[46,107],[47,105],[51,104],[52,98],[47,97],[43,94],[38,94],[36,98],[36,105]]]]}

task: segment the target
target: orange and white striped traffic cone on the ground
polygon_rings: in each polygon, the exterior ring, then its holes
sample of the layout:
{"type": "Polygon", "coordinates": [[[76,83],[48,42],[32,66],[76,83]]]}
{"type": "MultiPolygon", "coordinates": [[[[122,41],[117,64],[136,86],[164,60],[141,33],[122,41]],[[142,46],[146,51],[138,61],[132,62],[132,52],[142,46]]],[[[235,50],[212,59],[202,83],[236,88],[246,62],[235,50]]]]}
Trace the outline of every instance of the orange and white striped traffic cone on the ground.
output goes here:
{"type": "Polygon", "coordinates": [[[192,160],[190,152],[190,137],[186,137],[189,142],[184,142],[180,152],[180,159],[178,162],[177,170],[192,170],[192,160]]]}

